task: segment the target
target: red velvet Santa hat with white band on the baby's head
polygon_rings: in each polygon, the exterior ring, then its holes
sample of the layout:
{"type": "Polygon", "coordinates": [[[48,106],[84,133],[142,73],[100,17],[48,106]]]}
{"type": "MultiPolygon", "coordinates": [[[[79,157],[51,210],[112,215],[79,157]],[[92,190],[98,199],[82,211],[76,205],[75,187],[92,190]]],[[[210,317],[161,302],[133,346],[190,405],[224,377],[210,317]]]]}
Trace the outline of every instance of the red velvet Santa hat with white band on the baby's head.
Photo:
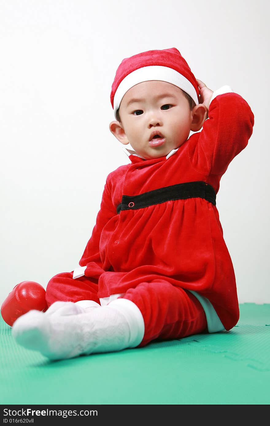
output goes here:
{"type": "Polygon", "coordinates": [[[159,80],[174,84],[188,93],[197,105],[199,89],[186,60],[175,47],[149,50],[125,58],[116,70],[110,93],[114,116],[125,93],[142,81],[159,80]]]}

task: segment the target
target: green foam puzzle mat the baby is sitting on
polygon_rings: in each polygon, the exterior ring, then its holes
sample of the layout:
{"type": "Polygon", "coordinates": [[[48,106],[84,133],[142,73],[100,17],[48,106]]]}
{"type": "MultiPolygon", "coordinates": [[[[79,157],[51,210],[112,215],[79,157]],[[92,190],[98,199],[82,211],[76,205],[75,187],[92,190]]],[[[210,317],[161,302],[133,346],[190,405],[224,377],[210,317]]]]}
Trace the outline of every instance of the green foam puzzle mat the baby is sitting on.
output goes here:
{"type": "Polygon", "coordinates": [[[0,318],[0,403],[269,404],[270,304],[239,306],[230,331],[54,362],[0,318]]]}

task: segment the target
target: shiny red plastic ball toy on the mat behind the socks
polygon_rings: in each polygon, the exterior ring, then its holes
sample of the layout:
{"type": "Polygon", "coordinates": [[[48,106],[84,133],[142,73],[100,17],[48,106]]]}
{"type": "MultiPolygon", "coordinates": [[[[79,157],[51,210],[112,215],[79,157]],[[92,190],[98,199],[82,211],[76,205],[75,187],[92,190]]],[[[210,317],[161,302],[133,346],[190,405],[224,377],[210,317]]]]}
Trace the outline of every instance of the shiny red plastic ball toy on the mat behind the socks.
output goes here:
{"type": "Polygon", "coordinates": [[[42,285],[35,281],[22,281],[15,285],[1,305],[3,320],[12,327],[17,318],[31,309],[46,311],[45,294],[42,285]]]}

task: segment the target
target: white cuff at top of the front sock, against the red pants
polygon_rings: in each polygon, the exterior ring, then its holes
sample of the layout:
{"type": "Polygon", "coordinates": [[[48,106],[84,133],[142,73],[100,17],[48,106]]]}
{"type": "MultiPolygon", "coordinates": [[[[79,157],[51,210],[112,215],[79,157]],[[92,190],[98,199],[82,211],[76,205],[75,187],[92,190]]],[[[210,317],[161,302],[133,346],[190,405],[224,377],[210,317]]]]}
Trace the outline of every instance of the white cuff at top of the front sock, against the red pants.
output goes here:
{"type": "Polygon", "coordinates": [[[145,331],[144,320],[138,306],[128,299],[116,299],[107,306],[123,314],[128,322],[130,339],[127,347],[135,348],[138,346],[143,339],[145,331]]]}

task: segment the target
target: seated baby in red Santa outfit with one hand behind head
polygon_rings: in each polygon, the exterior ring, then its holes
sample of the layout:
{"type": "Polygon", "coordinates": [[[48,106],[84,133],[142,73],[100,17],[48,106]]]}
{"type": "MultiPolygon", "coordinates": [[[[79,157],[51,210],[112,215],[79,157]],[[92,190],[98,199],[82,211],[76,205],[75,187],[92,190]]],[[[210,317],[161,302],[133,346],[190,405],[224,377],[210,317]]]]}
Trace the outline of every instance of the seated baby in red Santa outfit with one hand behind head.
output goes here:
{"type": "Polygon", "coordinates": [[[51,360],[230,330],[239,319],[215,200],[252,135],[249,105],[196,80],[175,48],[122,60],[110,101],[110,131],[131,145],[131,163],[107,176],[80,266],[50,279],[46,312],[12,327],[17,343],[51,360]]]}

